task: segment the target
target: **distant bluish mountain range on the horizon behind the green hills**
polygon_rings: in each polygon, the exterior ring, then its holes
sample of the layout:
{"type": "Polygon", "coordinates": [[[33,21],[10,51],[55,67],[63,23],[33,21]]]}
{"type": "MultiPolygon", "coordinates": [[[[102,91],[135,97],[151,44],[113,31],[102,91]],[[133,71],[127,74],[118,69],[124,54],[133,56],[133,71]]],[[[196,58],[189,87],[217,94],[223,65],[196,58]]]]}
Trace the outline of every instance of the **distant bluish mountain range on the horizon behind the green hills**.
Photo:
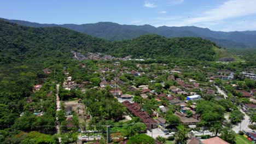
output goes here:
{"type": "MultiPolygon", "coordinates": [[[[6,19],[5,19],[6,20],[6,19]]],[[[242,32],[217,32],[211,31],[208,28],[200,28],[195,26],[185,27],[153,27],[150,25],[135,26],[135,25],[119,25],[113,22],[98,22],[88,23],[83,25],[75,24],[40,24],[35,22],[8,20],[30,27],[53,27],[60,26],[74,31],[86,33],[98,38],[107,40],[125,40],[137,38],[145,34],[158,34],[167,38],[174,37],[201,37],[217,43],[217,45],[226,48],[255,48],[256,47],[256,31],[242,32]]]]}

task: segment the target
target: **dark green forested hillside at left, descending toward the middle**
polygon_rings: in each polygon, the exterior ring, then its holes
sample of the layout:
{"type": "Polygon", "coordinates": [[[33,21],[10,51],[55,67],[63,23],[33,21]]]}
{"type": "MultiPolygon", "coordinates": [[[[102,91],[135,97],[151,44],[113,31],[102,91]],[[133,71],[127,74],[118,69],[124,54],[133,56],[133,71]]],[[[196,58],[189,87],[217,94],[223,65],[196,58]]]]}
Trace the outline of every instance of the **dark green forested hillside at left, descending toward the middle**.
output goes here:
{"type": "Polygon", "coordinates": [[[71,57],[71,50],[104,52],[107,40],[61,27],[32,28],[0,20],[0,63],[71,57]]]}

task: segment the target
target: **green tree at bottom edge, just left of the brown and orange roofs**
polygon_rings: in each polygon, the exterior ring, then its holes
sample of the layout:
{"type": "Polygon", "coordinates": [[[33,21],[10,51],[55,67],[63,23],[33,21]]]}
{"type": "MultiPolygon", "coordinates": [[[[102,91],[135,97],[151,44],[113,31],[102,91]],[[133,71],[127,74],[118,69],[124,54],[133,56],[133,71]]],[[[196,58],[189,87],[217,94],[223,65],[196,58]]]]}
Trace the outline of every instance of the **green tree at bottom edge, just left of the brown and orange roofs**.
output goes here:
{"type": "Polygon", "coordinates": [[[183,143],[187,142],[189,129],[185,128],[184,125],[177,126],[177,132],[175,134],[176,141],[183,143]]]}

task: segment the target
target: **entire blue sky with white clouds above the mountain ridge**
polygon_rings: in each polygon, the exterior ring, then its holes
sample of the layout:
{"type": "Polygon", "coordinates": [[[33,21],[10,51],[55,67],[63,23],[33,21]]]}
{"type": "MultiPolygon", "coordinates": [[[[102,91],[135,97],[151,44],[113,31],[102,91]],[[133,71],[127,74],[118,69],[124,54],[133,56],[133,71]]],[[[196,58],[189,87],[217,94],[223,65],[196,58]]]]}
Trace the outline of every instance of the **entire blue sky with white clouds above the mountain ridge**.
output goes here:
{"type": "Polygon", "coordinates": [[[0,17],[38,23],[110,21],[247,31],[256,30],[256,0],[8,0],[0,1],[0,17]]]}

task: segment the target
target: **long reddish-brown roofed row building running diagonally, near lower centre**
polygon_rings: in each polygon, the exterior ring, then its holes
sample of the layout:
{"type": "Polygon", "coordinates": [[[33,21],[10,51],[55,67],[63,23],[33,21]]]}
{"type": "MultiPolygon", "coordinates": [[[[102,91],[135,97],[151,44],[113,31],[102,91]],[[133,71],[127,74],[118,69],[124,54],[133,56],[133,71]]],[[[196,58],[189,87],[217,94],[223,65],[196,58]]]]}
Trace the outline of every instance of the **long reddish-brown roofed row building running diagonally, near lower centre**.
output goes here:
{"type": "Polygon", "coordinates": [[[141,111],[141,107],[137,103],[130,103],[130,101],[123,101],[122,104],[136,117],[139,117],[143,123],[147,125],[148,130],[157,128],[156,121],[149,117],[146,111],[141,111]]]}

